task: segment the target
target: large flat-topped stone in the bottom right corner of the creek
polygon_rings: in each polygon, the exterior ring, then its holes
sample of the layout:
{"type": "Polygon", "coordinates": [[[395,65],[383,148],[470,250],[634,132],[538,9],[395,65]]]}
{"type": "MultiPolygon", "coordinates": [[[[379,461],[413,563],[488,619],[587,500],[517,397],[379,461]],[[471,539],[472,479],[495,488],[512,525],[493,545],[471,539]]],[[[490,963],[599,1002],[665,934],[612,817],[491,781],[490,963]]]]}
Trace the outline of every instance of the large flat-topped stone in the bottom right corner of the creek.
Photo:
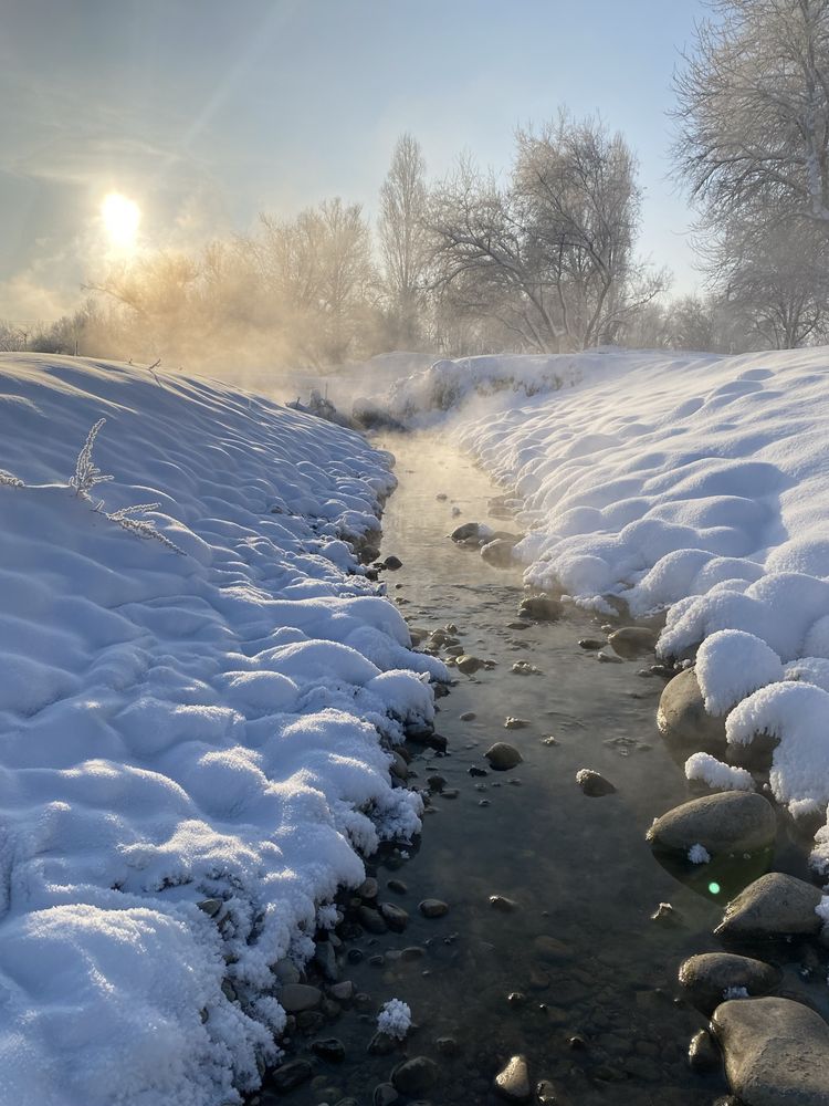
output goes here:
{"type": "Polygon", "coordinates": [[[745,1106],[829,1106],[829,1026],[790,999],[739,999],[714,1011],[732,1092],[745,1106]]]}

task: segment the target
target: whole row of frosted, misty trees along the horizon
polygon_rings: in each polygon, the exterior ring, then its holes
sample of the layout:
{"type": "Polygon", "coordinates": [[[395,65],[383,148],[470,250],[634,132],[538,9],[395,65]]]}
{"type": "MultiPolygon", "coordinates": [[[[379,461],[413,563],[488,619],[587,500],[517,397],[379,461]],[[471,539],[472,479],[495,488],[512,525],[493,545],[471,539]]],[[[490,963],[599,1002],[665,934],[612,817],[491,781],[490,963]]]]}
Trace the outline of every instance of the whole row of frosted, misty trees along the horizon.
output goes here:
{"type": "Polygon", "coordinates": [[[96,274],[72,317],[0,347],[321,368],[618,344],[741,352],[829,336],[829,0],[711,0],[675,77],[674,163],[705,279],[671,298],[637,253],[636,157],[596,118],[521,129],[497,176],[430,180],[397,143],[370,223],[330,199],[198,254],[96,274]]]}

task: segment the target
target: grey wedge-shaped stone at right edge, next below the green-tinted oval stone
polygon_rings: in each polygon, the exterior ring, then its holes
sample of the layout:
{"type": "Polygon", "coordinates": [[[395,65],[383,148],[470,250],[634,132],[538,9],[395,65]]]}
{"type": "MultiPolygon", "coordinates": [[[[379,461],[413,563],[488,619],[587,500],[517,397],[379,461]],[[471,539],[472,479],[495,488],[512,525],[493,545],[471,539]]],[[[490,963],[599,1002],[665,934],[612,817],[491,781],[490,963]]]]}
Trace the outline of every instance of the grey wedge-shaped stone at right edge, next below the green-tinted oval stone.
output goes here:
{"type": "Polygon", "coordinates": [[[783,872],[769,872],[728,902],[714,932],[728,938],[817,933],[822,922],[815,908],[821,898],[820,888],[814,884],[783,872]]]}

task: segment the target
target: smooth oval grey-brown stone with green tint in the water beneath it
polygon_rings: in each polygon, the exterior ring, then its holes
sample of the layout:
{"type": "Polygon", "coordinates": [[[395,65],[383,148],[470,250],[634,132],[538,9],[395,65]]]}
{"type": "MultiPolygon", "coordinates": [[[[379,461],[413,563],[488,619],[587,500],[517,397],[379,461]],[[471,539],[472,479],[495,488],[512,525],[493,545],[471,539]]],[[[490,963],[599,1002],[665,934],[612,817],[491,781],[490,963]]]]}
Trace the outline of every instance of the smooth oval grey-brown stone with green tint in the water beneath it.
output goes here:
{"type": "Polygon", "coordinates": [[[725,791],[668,811],[650,827],[647,839],[653,848],[680,853],[702,845],[713,856],[767,848],[776,834],[774,807],[763,795],[725,791]]]}

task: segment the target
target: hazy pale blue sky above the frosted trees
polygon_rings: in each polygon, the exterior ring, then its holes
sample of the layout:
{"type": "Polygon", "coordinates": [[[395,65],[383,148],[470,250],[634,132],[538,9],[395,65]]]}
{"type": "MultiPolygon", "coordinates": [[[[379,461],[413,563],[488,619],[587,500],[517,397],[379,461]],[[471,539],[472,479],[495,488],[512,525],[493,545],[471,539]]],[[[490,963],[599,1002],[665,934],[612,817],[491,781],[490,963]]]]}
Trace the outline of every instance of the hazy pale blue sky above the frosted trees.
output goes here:
{"type": "Polygon", "coordinates": [[[430,177],[505,170],[566,105],[637,152],[641,253],[699,283],[669,177],[671,74],[701,0],[3,0],[0,320],[51,321],[111,260],[118,191],[146,248],[195,249],[332,196],[376,210],[398,136],[430,177]]]}

